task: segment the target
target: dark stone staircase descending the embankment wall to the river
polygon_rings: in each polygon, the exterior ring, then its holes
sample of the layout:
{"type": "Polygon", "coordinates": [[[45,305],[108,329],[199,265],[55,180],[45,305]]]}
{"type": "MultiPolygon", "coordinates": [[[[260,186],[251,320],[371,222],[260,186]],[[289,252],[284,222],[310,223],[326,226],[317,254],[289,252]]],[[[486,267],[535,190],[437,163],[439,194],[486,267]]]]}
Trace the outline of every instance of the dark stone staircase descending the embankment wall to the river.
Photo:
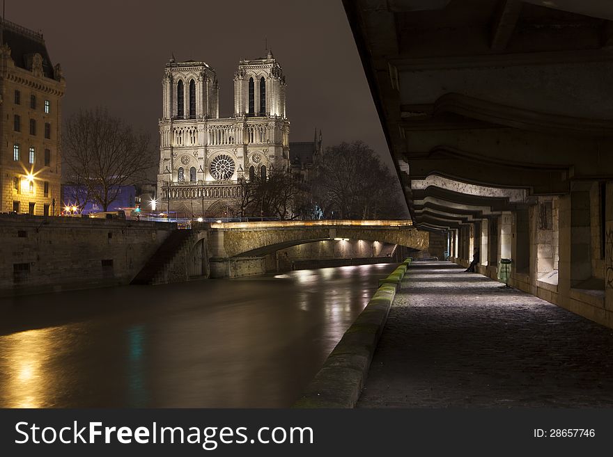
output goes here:
{"type": "Polygon", "coordinates": [[[187,279],[186,256],[192,247],[192,230],[174,230],[155,251],[130,284],[166,284],[187,279]],[[180,265],[180,264],[183,265],[180,265]]]}

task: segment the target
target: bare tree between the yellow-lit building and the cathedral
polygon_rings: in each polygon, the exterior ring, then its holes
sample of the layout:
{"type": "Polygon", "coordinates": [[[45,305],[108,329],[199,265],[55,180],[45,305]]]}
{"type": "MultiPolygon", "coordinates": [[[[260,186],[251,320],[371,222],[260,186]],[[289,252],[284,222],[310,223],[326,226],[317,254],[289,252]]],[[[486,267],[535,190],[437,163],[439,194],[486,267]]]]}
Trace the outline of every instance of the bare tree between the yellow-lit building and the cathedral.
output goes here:
{"type": "Polygon", "coordinates": [[[82,186],[88,200],[107,211],[121,186],[146,181],[157,160],[149,136],[106,109],[79,111],[65,122],[63,157],[67,184],[82,186]]]}

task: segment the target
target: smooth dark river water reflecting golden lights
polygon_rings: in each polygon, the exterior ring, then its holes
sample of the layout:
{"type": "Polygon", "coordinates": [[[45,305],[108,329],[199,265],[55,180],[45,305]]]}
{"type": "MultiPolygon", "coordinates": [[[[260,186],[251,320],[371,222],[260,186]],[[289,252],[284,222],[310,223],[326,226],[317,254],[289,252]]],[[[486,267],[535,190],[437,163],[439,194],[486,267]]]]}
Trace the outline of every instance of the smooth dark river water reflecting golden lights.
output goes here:
{"type": "Polygon", "coordinates": [[[0,408],[291,406],[395,266],[0,300],[0,408]]]}

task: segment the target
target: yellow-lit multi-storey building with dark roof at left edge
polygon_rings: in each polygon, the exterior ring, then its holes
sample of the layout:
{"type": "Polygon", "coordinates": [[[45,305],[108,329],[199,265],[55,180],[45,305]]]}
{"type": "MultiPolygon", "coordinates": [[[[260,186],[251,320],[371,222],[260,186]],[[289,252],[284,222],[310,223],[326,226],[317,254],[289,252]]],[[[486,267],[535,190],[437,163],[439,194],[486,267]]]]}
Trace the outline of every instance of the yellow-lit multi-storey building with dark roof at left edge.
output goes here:
{"type": "Polygon", "coordinates": [[[4,21],[0,46],[0,212],[61,209],[61,99],[65,81],[41,33],[4,21]]]}

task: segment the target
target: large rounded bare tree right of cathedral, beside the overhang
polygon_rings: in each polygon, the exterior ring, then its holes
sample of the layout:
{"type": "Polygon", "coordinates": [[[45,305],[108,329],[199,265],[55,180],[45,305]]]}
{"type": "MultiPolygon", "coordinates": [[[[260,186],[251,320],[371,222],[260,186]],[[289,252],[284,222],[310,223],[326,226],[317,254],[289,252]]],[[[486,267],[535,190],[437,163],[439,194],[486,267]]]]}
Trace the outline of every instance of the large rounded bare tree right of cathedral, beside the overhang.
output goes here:
{"type": "Polygon", "coordinates": [[[311,182],[313,202],[325,218],[404,218],[398,179],[362,141],[328,147],[311,182]]]}

